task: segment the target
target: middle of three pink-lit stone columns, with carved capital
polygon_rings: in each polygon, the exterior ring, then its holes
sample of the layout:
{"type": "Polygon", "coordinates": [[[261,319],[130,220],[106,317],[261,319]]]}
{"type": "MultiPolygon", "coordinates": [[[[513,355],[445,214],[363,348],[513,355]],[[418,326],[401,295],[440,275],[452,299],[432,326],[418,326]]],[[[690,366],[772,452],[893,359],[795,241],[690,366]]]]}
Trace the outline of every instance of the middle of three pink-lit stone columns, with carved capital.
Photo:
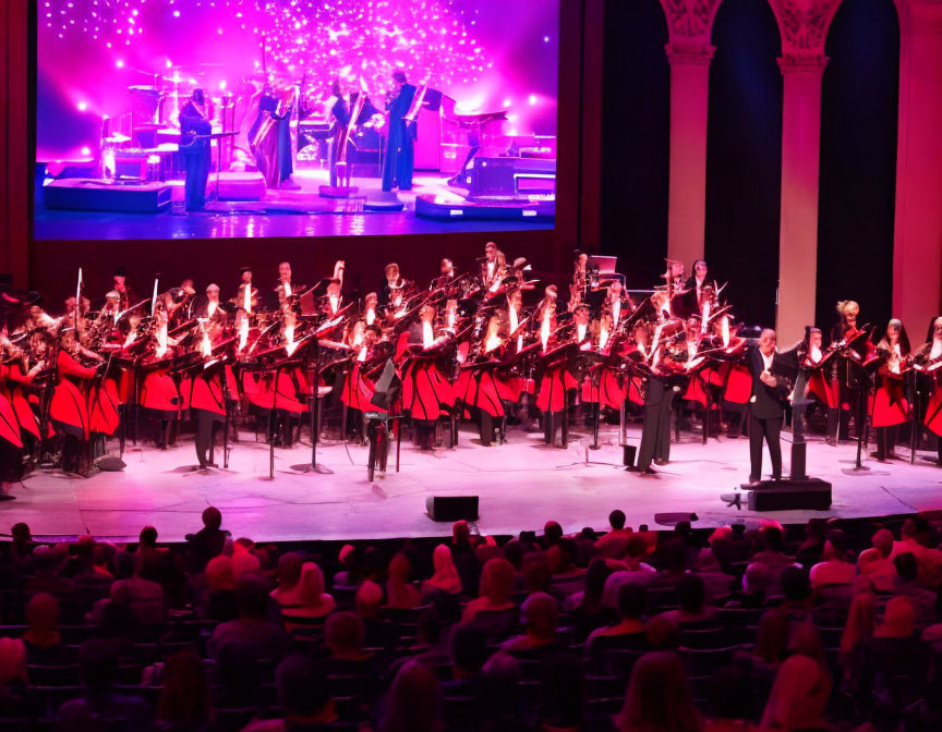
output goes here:
{"type": "Polygon", "coordinates": [[[828,58],[786,54],[782,70],[782,221],[778,239],[780,343],[794,343],[814,325],[818,280],[818,169],[821,78],[828,58]]]}

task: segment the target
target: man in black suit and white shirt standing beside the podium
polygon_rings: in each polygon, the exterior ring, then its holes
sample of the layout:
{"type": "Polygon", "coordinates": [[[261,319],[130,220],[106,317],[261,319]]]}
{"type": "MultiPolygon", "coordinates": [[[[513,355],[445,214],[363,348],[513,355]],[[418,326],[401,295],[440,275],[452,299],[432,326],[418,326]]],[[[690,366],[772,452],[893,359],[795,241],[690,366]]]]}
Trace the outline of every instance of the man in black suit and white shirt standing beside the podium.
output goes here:
{"type": "Polygon", "coordinates": [[[750,484],[762,479],[763,440],[769,446],[769,455],[772,457],[772,479],[782,479],[780,434],[785,417],[787,387],[781,376],[780,359],[781,355],[775,352],[775,331],[766,328],[759,335],[758,347],[752,349],[748,356],[749,371],[752,374],[752,396],[749,400],[750,484]]]}

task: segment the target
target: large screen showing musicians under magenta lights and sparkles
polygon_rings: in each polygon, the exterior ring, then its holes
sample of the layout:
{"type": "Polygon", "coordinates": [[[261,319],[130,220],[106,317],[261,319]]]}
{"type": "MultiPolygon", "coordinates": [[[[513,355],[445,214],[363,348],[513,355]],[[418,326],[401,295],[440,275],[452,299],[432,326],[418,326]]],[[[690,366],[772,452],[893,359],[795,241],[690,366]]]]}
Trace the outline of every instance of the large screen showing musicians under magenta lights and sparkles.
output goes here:
{"type": "Polygon", "coordinates": [[[40,0],[35,237],[552,228],[558,12],[40,0]]]}

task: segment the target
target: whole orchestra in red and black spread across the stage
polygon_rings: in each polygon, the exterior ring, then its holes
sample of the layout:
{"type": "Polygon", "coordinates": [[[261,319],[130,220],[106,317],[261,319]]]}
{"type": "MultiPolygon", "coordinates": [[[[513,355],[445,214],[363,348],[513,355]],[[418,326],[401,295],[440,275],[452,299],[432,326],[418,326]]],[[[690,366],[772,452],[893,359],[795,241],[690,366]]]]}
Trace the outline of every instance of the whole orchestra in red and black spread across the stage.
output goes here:
{"type": "Polygon", "coordinates": [[[898,319],[865,325],[846,301],[826,342],[809,325],[783,345],[737,320],[703,260],[689,277],[668,260],[653,289],[629,292],[611,258],[579,254],[560,288],[494,242],[472,269],[443,259],[431,283],[396,263],[375,290],[345,286],[343,261],[326,276],[295,278],[289,263],[274,282],[254,274],[135,290],[119,267],[107,292],[87,293],[80,270],[61,307],[0,281],[0,478],[87,477],[129,442],[166,450],[190,434],[194,469],[212,471],[241,429],[267,443],[273,476],[276,448],[303,442],[316,469],[318,442],[362,441],[372,480],[394,453],[398,467],[403,436],[451,449],[466,422],[485,447],[520,426],[560,447],[578,429],[597,449],[601,425],[628,444],[640,420],[640,475],[692,432],[748,436],[750,483],[768,446],[781,478],[789,419],[796,438],[856,439],[858,455],[872,441],[880,461],[915,459],[929,437],[942,465],[942,316],[914,342],[898,319]]]}

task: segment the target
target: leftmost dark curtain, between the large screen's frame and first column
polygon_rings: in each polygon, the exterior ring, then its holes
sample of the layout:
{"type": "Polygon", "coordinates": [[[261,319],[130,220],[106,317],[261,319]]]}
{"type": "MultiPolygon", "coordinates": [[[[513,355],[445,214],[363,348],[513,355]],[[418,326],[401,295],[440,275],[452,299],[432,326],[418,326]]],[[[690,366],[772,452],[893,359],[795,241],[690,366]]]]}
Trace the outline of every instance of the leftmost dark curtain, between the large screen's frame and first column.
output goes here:
{"type": "Polygon", "coordinates": [[[606,0],[601,254],[651,288],[667,252],[671,69],[657,0],[606,0]]]}

